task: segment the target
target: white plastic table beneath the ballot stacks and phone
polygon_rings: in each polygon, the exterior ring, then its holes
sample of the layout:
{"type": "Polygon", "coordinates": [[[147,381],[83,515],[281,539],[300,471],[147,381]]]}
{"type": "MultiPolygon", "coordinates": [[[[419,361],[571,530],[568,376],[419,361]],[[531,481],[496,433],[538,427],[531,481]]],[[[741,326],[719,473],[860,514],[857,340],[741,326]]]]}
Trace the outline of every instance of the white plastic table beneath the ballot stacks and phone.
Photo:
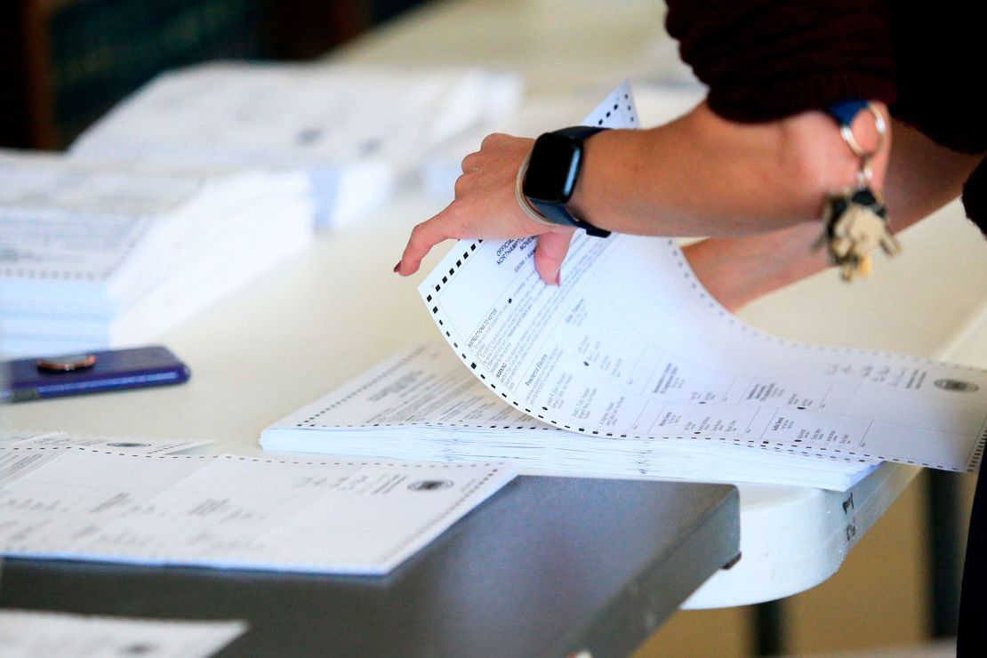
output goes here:
{"type": "MultiPolygon", "coordinates": [[[[535,98],[587,89],[591,98],[648,63],[678,74],[667,62],[660,23],[659,7],[650,2],[469,0],[414,13],[338,58],[495,64],[527,72],[535,98]]],[[[401,279],[392,267],[410,228],[440,207],[408,190],[359,226],[320,236],[296,261],[171,331],[164,342],[192,368],[185,386],[15,405],[4,409],[7,420],[19,429],[208,439],[217,452],[262,454],[257,439],[266,425],[433,335],[417,279],[401,279]]],[[[878,258],[865,282],[847,286],[827,272],[751,305],[741,317],[799,340],[940,353],[987,299],[987,246],[958,214],[950,206],[907,232],[904,255],[878,258]]],[[[983,359],[987,348],[977,351],[975,339],[964,344],[953,358],[983,359]]],[[[743,558],[687,606],[768,601],[825,580],[916,473],[885,465],[847,494],[741,486],[743,558]]]]}

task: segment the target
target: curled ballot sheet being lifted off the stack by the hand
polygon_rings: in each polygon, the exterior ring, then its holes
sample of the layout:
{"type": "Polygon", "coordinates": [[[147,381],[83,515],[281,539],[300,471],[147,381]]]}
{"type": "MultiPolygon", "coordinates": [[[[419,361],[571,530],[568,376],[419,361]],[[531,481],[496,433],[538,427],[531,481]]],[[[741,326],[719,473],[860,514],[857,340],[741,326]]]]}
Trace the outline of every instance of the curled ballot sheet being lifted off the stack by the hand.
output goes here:
{"type": "MultiPolygon", "coordinates": [[[[620,104],[587,123],[612,120],[611,110],[620,104]]],[[[559,287],[541,282],[534,250],[532,238],[460,241],[419,287],[466,367],[532,417],[616,440],[979,469],[985,370],[748,327],[705,291],[673,240],[577,232],[559,287]]]]}

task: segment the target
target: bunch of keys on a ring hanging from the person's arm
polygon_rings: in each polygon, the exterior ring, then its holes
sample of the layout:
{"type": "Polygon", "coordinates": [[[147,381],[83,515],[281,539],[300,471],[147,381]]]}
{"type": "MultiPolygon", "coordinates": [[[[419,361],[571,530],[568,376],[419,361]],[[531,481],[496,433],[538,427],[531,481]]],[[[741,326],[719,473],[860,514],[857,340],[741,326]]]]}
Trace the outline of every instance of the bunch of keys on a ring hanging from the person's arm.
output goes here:
{"type": "Polygon", "coordinates": [[[830,109],[840,125],[840,135],[850,150],[861,159],[857,183],[826,196],[822,212],[823,233],[815,249],[826,246],[829,260],[840,267],[844,281],[871,273],[871,252],[877,247],[887,256],[901,253],[901,244],[887,229],[887,208],[871,187],[871,160],[884,142],[886,125],[880,112],[864,101],[850,101],[830,109]],[[860,110],[869,110],[874,118],[877,144],[864,150],[857,143],[851,122],[860,110]]]}

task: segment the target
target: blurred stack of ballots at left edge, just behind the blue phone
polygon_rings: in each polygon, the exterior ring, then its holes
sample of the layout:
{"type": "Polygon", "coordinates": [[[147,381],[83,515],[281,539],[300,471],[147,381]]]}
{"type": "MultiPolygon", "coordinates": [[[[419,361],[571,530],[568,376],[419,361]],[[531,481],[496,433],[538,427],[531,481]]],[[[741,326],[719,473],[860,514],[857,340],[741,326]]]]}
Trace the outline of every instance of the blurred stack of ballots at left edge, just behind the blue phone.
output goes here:
{"type": "Polygon", "coordinates": [[[306,247],[299,173],[0,152],[0,353],[146,342],[306,247]]]}

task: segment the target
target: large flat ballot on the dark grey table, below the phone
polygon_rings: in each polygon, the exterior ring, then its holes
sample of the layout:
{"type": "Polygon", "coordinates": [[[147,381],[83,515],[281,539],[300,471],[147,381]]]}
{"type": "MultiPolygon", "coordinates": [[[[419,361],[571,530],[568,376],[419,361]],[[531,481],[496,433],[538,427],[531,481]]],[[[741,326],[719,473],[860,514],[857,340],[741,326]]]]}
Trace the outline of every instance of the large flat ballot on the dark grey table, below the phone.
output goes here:
{"type": "MultiPolygon", "coordinates": [[[[0,447],[0,460],[10,450],[0,447]]],[[[20,452],[30,450],[41,451],[20,452]]],[[[14,557],[383,574],[510,477],[499,464],[65,448],[0,482],[0,549],[14,557]]]]}

